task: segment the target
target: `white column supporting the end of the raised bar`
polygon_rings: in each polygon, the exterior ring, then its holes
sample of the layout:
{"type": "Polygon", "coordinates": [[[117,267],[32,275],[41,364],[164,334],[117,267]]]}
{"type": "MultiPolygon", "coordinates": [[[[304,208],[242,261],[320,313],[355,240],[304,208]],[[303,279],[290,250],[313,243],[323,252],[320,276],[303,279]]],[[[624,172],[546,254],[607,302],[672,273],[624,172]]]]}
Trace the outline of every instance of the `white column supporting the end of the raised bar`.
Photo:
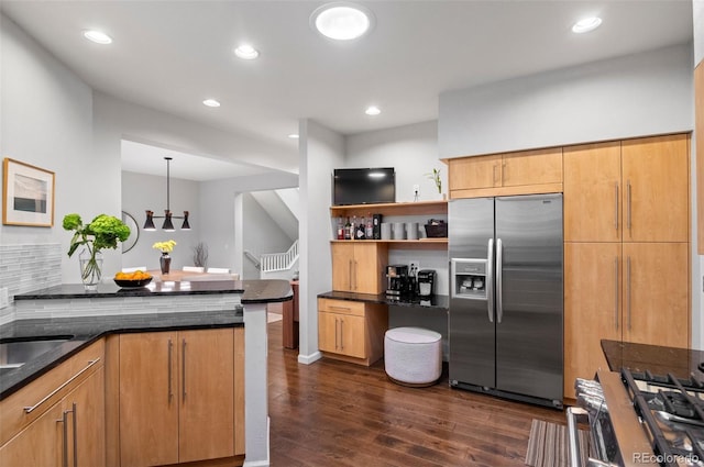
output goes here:
{"type": "Polygon", "coordinates": [[[266,303],[244,305],[244,467],[268,466],[266,303]]]}

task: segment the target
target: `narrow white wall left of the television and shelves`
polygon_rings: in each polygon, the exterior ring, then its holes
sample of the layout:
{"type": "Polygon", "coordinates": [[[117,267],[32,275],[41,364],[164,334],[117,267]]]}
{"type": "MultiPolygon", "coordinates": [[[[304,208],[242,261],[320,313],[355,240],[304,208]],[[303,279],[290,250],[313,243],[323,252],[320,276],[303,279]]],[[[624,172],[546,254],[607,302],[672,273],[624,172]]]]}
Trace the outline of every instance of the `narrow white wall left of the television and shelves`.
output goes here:
{"type": "Polygon", "coordinates": [[[298,362],[320,358],[317,296],[332,289],[330,257],[330,175],[344,166],[344,137],[324,126],[301,120],[300,152],[300,341],[298,362]]]}

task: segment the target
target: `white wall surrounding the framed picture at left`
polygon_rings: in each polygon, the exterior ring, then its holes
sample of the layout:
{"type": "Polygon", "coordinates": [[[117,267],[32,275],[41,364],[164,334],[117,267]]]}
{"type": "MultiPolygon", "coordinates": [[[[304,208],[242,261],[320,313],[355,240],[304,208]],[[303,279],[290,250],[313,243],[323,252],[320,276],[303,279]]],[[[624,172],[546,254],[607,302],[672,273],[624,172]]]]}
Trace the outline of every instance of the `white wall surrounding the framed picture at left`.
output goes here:
{"type": "MultiPolygon", "coordinates": [[[[92,145],[92,91],[32,37],[0,15],[0,154],[56,176],[53,227],[0,225],[2,244],[61,243],[72,234],[65,214],[84,222],[120,215],[120,160],[92,145]]],[[[105,270],[114,270],[120,249],[105,252],[105,270]]],[[[62,281],[79,283],[76,255],[62,258],[62,281]]]]}

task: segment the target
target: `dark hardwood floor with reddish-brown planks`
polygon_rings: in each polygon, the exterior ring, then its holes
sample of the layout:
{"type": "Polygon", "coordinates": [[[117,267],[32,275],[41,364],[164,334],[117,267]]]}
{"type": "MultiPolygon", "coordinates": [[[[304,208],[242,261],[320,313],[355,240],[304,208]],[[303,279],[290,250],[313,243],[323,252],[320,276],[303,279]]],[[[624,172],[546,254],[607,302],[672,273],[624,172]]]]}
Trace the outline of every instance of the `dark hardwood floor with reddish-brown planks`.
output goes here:
{"type": "Polygon", "coordinates": [[[271,465],[524,467],[532,419],[564,413],[450,389],[406,388],[371,368],[331,359],[298,364],[268,325],[271,465]]]}

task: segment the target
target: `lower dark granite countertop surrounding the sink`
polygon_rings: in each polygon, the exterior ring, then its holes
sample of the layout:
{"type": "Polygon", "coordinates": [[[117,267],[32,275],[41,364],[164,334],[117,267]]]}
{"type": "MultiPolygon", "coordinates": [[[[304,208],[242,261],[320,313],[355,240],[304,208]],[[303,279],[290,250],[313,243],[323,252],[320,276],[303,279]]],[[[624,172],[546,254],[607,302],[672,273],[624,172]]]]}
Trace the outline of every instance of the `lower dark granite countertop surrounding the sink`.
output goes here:
{"type": "Polygon", "coordinates": [[[0,370],[0,400],[108,334],[243,325],[242,312],[234,310],[16,320],[0,326],[0,343],[22,337],[69,340],[19,368],[0,370]]]}

